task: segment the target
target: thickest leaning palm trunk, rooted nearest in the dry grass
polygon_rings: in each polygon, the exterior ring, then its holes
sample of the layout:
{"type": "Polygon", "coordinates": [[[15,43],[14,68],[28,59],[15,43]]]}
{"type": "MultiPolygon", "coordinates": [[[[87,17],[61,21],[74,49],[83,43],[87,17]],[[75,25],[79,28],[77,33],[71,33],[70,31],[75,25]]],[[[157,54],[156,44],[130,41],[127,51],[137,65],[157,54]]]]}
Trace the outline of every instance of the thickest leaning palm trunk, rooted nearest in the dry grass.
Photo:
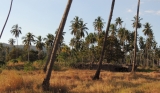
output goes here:
{"type": "Polygon", "coordinates": [[[66,20],[67,20],[67,16],[68,16],[71,4],[72,4],[72,0],[68,0],[66,10],[64,12],[63,18],[61,20],[61,23],[60,23],[60,26],[59,26],[59,29],[58,29],[58,34],[57,34],[57,38],[55,40],[55,44],[53,46],[53,50],[52,50],[52,53],[51,53],[49,66],[47,68],[46,76],[45,76],[44,81],[42,83],[42,88],[43,88],[44,91],[49,90],[49,81],[50,81],[50,77],[51,77],[52,67],[53,67],[54,61],[56,60],[56,52],[57,52],[57,49],[58,49],[58,44],[59,44],[61,36],[62,36],[62,32],[63,32],[64,26],[65,26],[65,23],[66,23],[66,20]]]}

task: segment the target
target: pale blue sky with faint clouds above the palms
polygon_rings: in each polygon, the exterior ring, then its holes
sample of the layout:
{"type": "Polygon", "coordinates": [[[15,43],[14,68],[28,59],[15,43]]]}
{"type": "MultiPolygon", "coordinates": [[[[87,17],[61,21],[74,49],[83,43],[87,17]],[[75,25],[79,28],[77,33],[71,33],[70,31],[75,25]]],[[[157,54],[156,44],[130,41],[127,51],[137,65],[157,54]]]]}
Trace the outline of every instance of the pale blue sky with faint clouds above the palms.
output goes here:
{"type": "MultiPolygon", "coordinates": [[[[35,36],[41,35],[43,38],[48,33],[54,34],[59,27],[68,0],[13,0],[12,10],[0,39],[1,43],[8,43],[10,38],[15,38],[10,30],[13,25],[21,27],[22,34],[18,38],[18,43],[22,43],[22,37],[28,32],[35,36]]],[[[11,0],[1,0],[0,3],[0,31],[3,28],[11,0]]],[[[104,19],[105,28],[107,26],[112,0],[73,0],[69,15],[66,21],[64,32],[64,43],[69,44],[71,35],[71,21],[75,16],[82,18],[87,23],[88,33],[96,32],[93,27],[94,20],[101,16],[104,19]]],[[[111,23],[115,23],[117,17],[124,21],[122,26],[130,31],[133,17],[136,15],[138,0],[115,0],[111,23]]],[[[160,45],[160,0],[141,0],[140,17],[142,24],[149,22],[155,36],[155,40],[160,45]]],[[[139,36],[144,36],[142,30],[138,29],[139,36]]],[[[145,36],[146,37],[146,36],[145,36]]]]}

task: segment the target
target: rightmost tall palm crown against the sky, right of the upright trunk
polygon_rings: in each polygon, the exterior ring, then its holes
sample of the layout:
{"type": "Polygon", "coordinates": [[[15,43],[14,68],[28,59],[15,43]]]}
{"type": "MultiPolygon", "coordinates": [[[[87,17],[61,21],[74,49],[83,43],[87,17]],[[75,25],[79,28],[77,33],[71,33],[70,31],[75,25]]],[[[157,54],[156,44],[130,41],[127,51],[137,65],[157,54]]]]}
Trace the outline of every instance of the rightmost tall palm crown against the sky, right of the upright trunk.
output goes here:
{"type": "Polygon", "coordinates": [[[147,35],[149,38],[152,38],[153,37],[153,32],[152,32],[152,29],[151,29],[151,25],[147,22],[144,26],[144,35],[147,35]]]}

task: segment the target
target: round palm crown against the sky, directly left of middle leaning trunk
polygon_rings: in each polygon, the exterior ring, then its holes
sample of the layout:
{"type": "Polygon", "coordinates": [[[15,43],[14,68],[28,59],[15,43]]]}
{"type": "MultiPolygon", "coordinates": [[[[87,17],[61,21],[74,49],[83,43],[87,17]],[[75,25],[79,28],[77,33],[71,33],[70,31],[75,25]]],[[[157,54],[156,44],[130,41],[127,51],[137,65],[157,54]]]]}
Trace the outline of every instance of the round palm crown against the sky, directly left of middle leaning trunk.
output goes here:
{"type": "Polygon", "coordinates": [[[103,22],[103,19],[100,16],[98,16],[97,19],[95,19],[93,22],[94,29],[97,30],[98,33],[102,32],[102,29],[104,28],[104,24],[105,22],[103,22]]]}

